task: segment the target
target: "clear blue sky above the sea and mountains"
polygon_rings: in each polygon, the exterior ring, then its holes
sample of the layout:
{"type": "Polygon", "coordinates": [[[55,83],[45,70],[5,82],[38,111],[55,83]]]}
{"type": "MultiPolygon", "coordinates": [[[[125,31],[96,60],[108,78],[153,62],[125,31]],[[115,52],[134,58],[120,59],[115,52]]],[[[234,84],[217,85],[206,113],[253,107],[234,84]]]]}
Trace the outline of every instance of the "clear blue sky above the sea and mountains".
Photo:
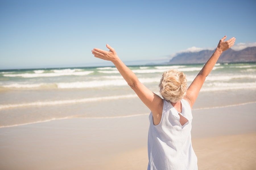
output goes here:
{"type": "Polygon", "coordinates": [[[256,46],[256,1],[0,0],[0,69],[110,65],[91,50],[112,46],[127,65],[182,51],[256,46]]]}

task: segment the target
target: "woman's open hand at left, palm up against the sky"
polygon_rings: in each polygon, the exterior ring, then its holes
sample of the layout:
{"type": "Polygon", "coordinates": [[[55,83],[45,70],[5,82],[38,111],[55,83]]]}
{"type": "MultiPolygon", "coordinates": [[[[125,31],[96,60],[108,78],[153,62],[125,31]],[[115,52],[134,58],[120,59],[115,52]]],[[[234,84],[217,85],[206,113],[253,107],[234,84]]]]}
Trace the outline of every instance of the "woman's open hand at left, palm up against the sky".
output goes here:
{"type": "Polygon", "coordinates": [[[108,60],[108,61],[112,61],[112,62],[119,59],[115,50],[114,50],[114,48],[112,48],[108,44],[106,46],[109,49],[109,51],[94,48],[92,50],[92,54],[94,55],[94,57],[104,59],[104,60],[108,60]]]}

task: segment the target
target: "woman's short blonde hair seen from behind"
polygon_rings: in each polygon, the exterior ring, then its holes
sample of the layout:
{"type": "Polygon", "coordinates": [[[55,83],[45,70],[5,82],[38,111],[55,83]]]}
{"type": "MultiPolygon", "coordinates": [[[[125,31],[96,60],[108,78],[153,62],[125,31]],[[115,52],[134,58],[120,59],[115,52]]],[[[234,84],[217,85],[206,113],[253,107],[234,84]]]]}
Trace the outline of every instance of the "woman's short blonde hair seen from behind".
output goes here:
{"type": "Polygon", "coordinates": [[[177,103],[187,92],[186,75],[176,69],[170,69],[162,75],[159,87],[160,94],[165,100],[177,103]]]}

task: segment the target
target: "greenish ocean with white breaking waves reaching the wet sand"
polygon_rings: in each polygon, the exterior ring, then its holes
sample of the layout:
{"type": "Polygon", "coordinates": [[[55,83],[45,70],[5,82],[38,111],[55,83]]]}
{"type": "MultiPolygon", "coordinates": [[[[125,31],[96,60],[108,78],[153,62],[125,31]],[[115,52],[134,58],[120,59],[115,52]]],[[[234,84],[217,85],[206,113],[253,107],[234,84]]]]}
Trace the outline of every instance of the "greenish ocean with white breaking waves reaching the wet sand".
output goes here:
{"type": "MultiPolygon", "coordinates": [[[[202,67],[203,64],[129,66],[156,94],[164,71],[183,71],[189,86],[202,67]]],[[[217,63],[200,94],[208,101],[201,99],[193,109],[255,102],[256,63],[217,63]],[[230,101],[216,98],[226,94],[230,101]]],[[[0,70],[0,127],[149,112],[115,67],[0,70]]]]}

